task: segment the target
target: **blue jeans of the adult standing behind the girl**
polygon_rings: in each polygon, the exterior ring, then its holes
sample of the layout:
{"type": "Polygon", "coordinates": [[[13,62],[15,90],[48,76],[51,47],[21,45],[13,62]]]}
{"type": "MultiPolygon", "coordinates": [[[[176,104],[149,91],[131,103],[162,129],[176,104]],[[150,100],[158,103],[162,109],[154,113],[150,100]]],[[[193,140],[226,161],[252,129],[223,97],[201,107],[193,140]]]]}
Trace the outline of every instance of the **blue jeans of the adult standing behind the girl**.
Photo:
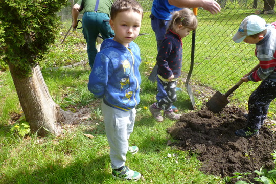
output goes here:
{"type": "MultiPolygon", "coordinates": [[[[151,28],[155,33],[157,50],[159,51],[159,47],[166,33],[166,29],[169,21],[158,19],[152,14],[150,15],[150,19],[151,19],[151,28]]],[[[154,72],[156,72],[157,74],[157,71],[154,71],[154,72]]],[[[156,75],[156,78],[157,78],[157,90],[158,90],[158,94],[156,95],[156,100],[159,101],[160,99],[167,97],[167,93],[157,75],[156,75]]]]}

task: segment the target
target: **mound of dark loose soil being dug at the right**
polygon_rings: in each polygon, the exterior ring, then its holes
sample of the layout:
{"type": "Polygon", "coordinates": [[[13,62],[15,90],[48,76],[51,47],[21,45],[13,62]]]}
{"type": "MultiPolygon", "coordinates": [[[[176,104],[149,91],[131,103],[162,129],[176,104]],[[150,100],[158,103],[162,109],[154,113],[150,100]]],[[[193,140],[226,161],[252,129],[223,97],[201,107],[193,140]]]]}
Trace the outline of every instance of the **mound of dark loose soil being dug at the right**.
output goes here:
{"type": "Polygon", "coordinates": [[[237,129],[246,127],[244,112],[236,107],[224,108],[219,114],[206,109],[182,114],[180,121],[168,128],[174,143],[180,150],[189,150],[202,162],[206,174],[221,177],[233,176],[234,172],[251,172],[262,166],[271,170],[274,163],[271,153],[276,150],[275,134],[262,126],[260,134],[250,139],[235,135],[237,129]]]}

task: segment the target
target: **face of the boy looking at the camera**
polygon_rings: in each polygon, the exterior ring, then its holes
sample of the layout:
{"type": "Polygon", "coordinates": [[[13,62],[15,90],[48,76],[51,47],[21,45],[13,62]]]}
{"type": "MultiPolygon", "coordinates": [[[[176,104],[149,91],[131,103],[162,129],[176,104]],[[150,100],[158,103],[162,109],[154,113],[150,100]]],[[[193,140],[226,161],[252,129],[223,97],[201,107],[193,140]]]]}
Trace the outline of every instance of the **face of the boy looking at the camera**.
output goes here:
{"type": "Polygon", "coordinates": [[[113,40],[128,47],[128,44],[137,38],[141,21],[142,15],[133,10],[118,13],[115,19],[110,19],[110,26],[115,32],[113,40]]]}

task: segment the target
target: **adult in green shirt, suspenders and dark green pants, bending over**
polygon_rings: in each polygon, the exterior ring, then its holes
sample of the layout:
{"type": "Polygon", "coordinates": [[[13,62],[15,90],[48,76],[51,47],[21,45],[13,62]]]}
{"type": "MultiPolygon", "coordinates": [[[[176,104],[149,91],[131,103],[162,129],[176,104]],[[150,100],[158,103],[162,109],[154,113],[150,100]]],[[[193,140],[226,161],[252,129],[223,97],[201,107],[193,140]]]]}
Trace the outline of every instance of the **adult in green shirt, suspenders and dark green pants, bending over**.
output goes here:
{"type": "Polygon", "coordinates": [[[109,25],[109,14],[113,1],[79,0],[72,9],[73,28],[77,26],[82,3],[84,12],[82,17],[82,33],[87,43],[88,60],[92,68],[97,54],[96,39],[99,33],[101,33],[103,39],[114,37],[114,31],[109,25]]]}

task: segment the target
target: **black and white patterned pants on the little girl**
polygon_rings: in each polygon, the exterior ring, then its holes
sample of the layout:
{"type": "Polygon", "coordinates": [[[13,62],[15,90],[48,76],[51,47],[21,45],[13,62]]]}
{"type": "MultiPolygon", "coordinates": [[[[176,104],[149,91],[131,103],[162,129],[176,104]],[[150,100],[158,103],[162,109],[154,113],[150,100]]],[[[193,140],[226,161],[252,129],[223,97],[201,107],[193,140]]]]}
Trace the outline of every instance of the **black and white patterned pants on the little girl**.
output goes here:
{"type": "Polygon", "coordinates": [[[160,100],[158,100],[156,106],[158,108],[162,108],[165,111],[170,111],[172,109],[172,104],[173,102],[176,101],[176,81],[162,81],[160,80],[160,82],[162,83],[166,93],[167,93],[167,97],[164,97],[160,100]]]}

